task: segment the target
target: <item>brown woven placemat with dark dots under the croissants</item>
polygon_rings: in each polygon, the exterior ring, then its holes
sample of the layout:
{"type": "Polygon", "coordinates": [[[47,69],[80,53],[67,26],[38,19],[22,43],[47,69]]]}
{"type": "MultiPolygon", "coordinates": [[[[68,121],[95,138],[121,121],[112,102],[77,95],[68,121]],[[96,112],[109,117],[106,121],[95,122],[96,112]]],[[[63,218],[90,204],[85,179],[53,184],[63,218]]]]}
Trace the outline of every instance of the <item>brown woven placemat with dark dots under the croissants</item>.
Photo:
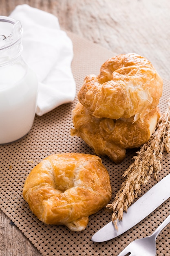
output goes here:
{"type": "MultiPolygon", "coordinates": [[[[102,63],[119,53],[110,52],[70,32],[68,36],[73,41],[72,70],[78,91],[86,75],[98,74],[102,63]]],[[[170,97],[169,88],[170,82],[164,81],[163,96],[160,101],[161,112],[166,109],[166,100],[170,97]]],[[[147,236],[156,229],[168,216],[170,200],[164,202],[150,216],[119,237],[104,243],[93,243],[92,235],[111,220],[111,213],[108,213],[106,209],[90,216],[85,231],[72,232],[64,226],[45,225],[40,222],[22,198],[22,188],[27,175],[44,157],[54,153],[68,152],[93,154],[82,139],[70,135],[70,129],[73,128],[71,110],[76,103],[77,97],[73,103],[64,104],[42,117],[36,116],[28,135],[15,143],[0,146],[0,209],[44,256],[117,255],[132,240],[147,236]]],[[[103,164],[110,174],[113,189],[112,201],[123,180],[122,174],[132,163],[132,156],[136,151],[136,149],[127,150],[126,159],[118,165],[115,165],[108,157],[102,157],[103,164]]],[[[169,155],[163,154],[159,180],[169,173],[169,164],[169,155]]],[[[151,176],[148,184],[142,187],[141,195],[154,184],[156,181],[151,176]]],[[[169,248],[170,227],[167,226],[157,239],[157,254],[167,256],[169,248]]]]}

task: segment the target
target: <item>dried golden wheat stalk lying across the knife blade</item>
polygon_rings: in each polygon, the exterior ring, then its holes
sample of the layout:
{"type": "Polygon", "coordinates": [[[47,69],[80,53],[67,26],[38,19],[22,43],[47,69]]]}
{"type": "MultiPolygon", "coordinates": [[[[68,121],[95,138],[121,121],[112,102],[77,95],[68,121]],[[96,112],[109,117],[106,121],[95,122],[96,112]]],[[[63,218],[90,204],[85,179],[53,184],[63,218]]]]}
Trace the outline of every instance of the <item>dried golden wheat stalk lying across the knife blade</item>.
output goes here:
{"type": "Polygon", "coordinates": [[[121,188],[115,196],[113,203],[106,207],[113,209],[112,221],[117,229],[117,220],[122,220],[124,211],[128,210],[133,200],[141,193],[141,185],[146,184],[150,175],[161,171],[161,159],[163,150],[170,153],[170,99],[168,108],[160,117],[155,132],[150,137],[148,143],[144,144],[137,155],[133,157],[135,161],[126,169],[121,188]]]}

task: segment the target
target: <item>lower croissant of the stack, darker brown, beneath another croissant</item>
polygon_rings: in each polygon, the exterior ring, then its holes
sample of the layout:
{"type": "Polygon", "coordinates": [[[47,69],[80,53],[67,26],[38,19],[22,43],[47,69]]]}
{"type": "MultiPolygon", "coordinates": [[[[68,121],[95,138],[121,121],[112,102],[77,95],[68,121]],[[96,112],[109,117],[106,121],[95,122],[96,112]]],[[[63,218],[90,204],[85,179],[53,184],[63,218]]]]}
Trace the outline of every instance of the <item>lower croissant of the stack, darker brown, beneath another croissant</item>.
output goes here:
{"type": "Polygon", "coordinates": [[[133,123],[133,117],[96,118],[79,102],[72,115],[75,129],[71,135],[81,137],[97,155],[108,155],[116,164],[124,159],[126,148],[136,148],[148,141],[160,117],[155,108],[143,122],[138,119],[133,123]]]}

